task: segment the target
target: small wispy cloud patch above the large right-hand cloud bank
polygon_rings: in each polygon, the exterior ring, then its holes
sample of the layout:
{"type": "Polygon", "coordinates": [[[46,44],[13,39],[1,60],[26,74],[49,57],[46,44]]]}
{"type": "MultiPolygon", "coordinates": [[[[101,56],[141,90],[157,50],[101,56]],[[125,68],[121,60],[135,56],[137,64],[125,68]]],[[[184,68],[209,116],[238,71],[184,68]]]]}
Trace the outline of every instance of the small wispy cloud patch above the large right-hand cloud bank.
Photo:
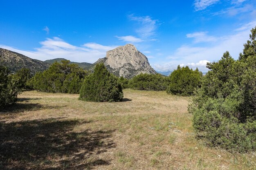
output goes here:
{"type": "Polygon", "coordinates": [[[215,42],[217,39],[207,35],[208,32],[195,32],[186,35],[187,38],[194,38],[194,42],[215,42]]]}

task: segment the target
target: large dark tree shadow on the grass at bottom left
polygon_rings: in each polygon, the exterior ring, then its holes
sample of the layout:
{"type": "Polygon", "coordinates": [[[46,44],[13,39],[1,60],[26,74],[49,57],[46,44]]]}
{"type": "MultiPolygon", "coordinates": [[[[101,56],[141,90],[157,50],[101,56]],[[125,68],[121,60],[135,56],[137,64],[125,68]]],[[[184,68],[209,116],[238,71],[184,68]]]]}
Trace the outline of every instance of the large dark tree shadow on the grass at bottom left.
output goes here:
{"type": "Polygon", "coordinates": [[[43,119],[0,123],[1,170],[90,169],[108,165],[108,158],[93,157],[115,147],[112,130],[84,130],[74,127],[89,122],[78,119],[43,119]]]}

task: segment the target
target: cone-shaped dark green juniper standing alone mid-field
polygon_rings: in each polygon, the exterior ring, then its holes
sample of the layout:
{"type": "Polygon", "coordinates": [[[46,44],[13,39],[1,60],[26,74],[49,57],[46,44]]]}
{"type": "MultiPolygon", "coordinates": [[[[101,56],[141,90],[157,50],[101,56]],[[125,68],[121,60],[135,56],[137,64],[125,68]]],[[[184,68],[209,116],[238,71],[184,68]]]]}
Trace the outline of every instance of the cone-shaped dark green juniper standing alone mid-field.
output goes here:
{"type": "Polygon", "coordinates": [[[85,77],[79,99],[91,102],[119,102],[124,97],[118,78],[110,74],[103,63],[85,77]]]}

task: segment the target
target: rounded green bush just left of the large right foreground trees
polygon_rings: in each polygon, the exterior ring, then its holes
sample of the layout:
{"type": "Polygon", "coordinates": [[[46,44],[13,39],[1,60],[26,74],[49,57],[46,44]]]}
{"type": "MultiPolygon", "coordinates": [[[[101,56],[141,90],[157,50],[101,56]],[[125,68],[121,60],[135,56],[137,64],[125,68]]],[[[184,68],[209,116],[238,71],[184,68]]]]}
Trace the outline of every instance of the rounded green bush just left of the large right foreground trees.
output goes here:
{"type": "Polygon", "coordinates": [[[174,95],[191,96],[196,88],[201,86],[202,72],[196,68],[194,71],[188,66],[177,67],[169,76],[170,84],[166,92],[174,95]]]}

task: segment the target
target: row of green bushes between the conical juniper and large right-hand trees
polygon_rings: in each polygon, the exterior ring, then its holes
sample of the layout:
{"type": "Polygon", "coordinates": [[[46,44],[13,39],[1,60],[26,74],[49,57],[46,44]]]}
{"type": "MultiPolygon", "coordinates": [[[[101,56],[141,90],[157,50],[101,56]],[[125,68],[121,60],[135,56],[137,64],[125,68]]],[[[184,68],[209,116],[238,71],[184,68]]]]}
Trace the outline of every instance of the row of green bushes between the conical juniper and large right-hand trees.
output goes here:
{"type": "Polygon", "coordinates": [[[132,88],[142,91],[166,91],[168,94],[191,96],[196,88],[200,88],[202,72],[196,68],[194,71],[188,66],[178,66],[171,75],[139,74],[128,80],[120,78],[123,88],[132,88]]]}

